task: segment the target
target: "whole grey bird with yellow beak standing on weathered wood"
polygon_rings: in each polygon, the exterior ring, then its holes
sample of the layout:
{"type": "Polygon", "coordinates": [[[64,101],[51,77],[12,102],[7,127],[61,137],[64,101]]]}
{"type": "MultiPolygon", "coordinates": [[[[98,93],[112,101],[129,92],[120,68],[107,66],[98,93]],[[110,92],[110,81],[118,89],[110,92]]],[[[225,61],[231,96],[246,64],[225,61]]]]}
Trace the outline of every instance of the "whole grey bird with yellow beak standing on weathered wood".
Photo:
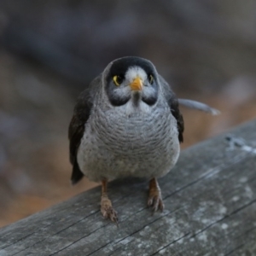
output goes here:
{"type": "MultiPolygon", "coordinates": [[[[183,99],[180,103],[218,113],[201,102],[183,99]]],[[[148,206],[162,211],[157,178],[176,164],[183,130],[178,99],[151,61],[134,56],[112,61],[80,94],[74,108],[68,131],[72,183],[83,176],[101,182],[102,215],[117,222],[108,181],[146,177],[148,206]]]]}

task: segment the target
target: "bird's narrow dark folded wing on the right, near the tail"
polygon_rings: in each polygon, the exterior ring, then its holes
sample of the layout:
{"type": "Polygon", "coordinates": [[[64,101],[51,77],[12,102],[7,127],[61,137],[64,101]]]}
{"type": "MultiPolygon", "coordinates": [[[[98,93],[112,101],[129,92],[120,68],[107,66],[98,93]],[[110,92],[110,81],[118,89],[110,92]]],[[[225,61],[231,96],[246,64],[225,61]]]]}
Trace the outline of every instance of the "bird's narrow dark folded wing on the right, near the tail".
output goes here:
{"type": "Polygon", "coordinates": [[[161,87],[164,91],[166,101],[172,112],[172,115],[177,120],[178,140],[180,143],[183,143],[184,122],[183,122],[183,115],[180,113],[178,108],[177,96],[172,91],[170,84],[168,84],[166,80],[163,79],[160,75],[159,75],[159,80],[160,80],[161,87]]]}

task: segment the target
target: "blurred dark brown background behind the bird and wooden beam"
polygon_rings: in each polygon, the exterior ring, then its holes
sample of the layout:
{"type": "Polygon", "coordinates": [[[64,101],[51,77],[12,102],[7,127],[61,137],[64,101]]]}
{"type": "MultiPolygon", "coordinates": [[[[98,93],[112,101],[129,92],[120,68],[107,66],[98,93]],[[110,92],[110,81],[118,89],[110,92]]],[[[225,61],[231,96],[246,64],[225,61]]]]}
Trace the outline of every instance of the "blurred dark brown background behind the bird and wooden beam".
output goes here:
{"type": "Polygon", "coordinates": [[[96,185],[69,183],[67,126],[79,92],[117,57],[148,58],[177,96],[222,111],[182,108],[183,148],[253,119],[255,9],[253,0],[1,0],[0,226],[96,185]]]}

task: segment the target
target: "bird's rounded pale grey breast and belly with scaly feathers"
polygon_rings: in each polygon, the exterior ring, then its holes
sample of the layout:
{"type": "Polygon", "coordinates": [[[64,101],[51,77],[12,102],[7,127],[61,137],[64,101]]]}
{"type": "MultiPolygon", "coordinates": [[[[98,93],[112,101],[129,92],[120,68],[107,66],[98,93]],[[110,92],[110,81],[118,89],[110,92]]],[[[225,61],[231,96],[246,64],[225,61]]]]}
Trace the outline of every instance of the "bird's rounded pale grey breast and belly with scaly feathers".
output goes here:
{"type": "Polygon", "coordinates": [[[105,108],[99,102],[85,126],[78,162],[94,181],[160,177],[175,165],[178,154],[177,123],[167,104],[127,114],[125,108],[105,108]]]}

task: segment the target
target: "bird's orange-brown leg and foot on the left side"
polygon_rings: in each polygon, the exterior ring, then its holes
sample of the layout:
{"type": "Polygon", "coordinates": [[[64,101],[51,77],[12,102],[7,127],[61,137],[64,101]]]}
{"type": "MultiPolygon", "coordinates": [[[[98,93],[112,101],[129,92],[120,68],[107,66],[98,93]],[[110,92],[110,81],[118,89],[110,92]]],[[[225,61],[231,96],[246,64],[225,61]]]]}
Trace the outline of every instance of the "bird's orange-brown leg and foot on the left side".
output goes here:
{"type": "Polygon", "coordinates": [[[101,212],[104,218],[110,218],[113,222],[118,223],[117,213],[113,210],[112,203],[107,195],[108,180],[102,180],[102,201],[101,212]]]}

